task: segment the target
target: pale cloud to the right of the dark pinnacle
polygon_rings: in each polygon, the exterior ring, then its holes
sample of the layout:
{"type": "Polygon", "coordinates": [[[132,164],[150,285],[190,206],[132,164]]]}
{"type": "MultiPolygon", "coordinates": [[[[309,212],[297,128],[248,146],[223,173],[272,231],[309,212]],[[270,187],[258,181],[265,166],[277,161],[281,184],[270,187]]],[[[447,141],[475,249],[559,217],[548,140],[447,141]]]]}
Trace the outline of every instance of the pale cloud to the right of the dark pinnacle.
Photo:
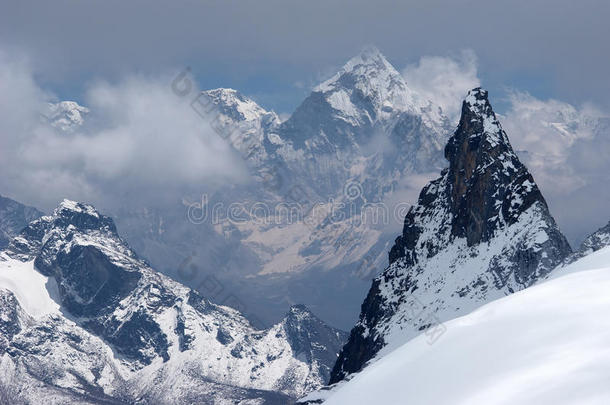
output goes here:
{"type": "Polygon", "coordinates": [[[610,220],[610,121],[592,105],[514,91],[509,101],[503,127],[563,231],[578,242],[610,220]]]}

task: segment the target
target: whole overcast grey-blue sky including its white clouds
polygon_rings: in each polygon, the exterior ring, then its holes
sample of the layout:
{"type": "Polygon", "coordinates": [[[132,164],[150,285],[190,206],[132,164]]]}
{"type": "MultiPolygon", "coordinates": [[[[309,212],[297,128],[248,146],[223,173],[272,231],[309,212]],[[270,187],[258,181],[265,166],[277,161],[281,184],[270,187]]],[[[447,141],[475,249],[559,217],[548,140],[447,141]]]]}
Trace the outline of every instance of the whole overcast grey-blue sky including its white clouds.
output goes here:
{"type": "Polygon", "coordinates": [[[452,117],[468,89],[489,89],[572,241],[610,219],[610,126],[590,125],[610,111],[608,1],[0,2],[0,194],[25,203],[241,181],[243,162],[172,98],[172,77],[189,66],[201,89],[236,88],[286,116],[375,45],[452,117]],[[50,132],[39,112],[52,98],[103,125],[50,132]],[[566,117],[577,142],[549,125],[566,117]]]}

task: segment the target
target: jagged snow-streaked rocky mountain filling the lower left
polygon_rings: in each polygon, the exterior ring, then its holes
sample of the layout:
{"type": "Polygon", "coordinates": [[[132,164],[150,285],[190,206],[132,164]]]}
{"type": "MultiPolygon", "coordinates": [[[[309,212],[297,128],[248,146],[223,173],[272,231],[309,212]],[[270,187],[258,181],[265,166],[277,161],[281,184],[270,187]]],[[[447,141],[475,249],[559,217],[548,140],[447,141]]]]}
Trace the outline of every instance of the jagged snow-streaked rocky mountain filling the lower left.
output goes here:
{"type": "Polygon", "coordinates": [[[346,338],[302,306],[257,330],[67,200],[0,254],[0,292],[0,392],[13,401],[290,403],[329,378],[346,338]]]}

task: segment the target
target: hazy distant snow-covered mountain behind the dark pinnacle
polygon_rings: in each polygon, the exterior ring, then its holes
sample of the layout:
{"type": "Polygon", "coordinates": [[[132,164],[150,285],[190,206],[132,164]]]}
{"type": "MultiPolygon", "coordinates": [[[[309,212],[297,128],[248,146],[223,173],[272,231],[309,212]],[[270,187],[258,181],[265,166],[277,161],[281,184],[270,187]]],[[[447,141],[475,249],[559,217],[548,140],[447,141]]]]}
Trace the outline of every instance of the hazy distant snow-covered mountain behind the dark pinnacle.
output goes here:
{"type": "Polygon", "coordinates": [[[445,165],[449,121],[374,48],[314,88],[284,122],[235,90],[201,97],[197,111],[252,174],[250,183],[207,195],[208,207],[266,207],[266,218],[189,222],[202,185],[171,207],[113,213],[121,235],[155,268],[193,288],[202,278],[178,273],[187,259],[198,274],[218,277],[266,323],[302,302],[350,327],[402,225],[397,205],[415,201],[445,165]],[[383,218],[360,221],[366,215],[383,218]]]}

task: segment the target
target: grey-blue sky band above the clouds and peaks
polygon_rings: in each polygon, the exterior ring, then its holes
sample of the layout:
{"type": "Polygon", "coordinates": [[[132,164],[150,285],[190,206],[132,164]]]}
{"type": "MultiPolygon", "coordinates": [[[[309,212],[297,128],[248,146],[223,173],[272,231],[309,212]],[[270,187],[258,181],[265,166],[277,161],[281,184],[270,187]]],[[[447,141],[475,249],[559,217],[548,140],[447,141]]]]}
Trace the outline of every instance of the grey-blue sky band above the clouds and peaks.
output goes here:
{"type": "Polygon", "coordinates": [[[80,98],[91,79],[191,66],[280,113],[374,44],[397,67],[475,52],[483,84],[610,105],[604,0],[2,0],[0,45],[25,52],[44,86],[80,98]]]}

